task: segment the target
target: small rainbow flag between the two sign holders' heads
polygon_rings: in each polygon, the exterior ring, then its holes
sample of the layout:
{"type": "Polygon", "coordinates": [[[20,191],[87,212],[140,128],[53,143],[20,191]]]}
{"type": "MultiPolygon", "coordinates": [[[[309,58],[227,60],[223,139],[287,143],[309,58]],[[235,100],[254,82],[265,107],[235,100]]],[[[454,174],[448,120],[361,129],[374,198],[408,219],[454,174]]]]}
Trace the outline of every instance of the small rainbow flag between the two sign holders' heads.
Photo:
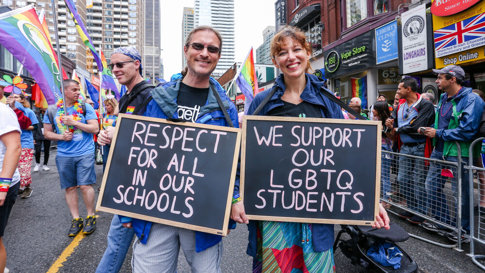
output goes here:
{"type": "Polygon", "coordinates": [[[259,93],[258,78],[256,77],[256,69],[254,69],[253,47],[249,50],[246,60],[239,67],[236,77],[236,83],[246,97],[244,102],[250,103],[254,96],[259,93]]]}

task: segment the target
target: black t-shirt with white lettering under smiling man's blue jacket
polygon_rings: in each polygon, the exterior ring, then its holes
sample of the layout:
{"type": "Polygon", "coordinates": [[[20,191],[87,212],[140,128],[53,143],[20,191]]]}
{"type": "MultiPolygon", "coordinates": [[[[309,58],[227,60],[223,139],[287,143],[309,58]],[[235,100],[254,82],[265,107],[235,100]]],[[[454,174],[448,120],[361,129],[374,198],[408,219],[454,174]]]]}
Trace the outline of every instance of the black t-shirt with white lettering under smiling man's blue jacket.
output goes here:
{"type": "Polygon", "coordinates": [[[180,82],[180,90],[177,96],[178,118],[185,121],[195,122],[199,116],[200,107],[207,102],[209,87],[195,88],[180,82]]]}

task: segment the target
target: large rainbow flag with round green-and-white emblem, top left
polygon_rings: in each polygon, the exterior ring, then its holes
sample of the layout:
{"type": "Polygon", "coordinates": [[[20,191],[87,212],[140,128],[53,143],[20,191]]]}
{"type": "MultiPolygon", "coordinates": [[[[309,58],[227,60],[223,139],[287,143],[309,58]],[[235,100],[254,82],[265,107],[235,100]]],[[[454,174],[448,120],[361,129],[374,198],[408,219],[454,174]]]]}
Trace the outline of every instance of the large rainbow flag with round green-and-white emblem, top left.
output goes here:
{"type": "Polygon", "coordinates": [[[62,97],[55,52],[32,5],[0,14],[0,44],[27,68],[49,104],[62,97]]]}

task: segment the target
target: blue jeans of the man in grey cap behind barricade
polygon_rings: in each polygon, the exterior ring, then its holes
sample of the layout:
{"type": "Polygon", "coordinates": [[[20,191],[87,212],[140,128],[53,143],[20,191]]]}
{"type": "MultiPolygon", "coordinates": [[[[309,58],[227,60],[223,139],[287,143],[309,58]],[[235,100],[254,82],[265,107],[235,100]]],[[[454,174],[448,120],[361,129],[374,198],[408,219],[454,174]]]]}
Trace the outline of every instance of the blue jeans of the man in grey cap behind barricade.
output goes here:
{"type": "MultiPolygon", "coordinates": [[[[431,159],[445,160],[451,162],[457,162],[457,157],[448,156],[443,158],[443,152],[433,151],[431,154],[431,159]]],[[[469,177],[468,171],[464,168],[466,163],[462,160],[461,162],[461,225],[465,231],[470,230],[470,198],[469,198],[469,177]]],[[[445,187],[445,182],[448,177],[441,176],[442,169],[451,169],[453,172],[452,181],[452,191],[453,199],[455,204],[455,213],[457,212],[457,169],[454,166],[442,165],[440,163],[431,162],[428,177],[426,177],[426,191],[428,196],[428,204],[433,217],[441,223],[456,226],[456,217],[451,219],[450,209],[448,209],[448,204],[446,203],[446,195],[443,193],[443,188],[445,187]]]]}

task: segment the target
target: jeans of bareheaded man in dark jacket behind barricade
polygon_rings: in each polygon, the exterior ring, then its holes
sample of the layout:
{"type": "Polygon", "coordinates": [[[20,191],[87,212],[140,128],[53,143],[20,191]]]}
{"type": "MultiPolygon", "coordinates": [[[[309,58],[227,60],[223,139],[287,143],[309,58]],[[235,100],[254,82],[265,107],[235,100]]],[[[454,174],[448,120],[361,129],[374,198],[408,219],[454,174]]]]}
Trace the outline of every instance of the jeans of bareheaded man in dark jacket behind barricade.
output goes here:
{"type": "Polygon", "coordinates": [[[424,180],[426,178],[427,166],[422,159],[413,159],[405,155],[424,157],[425,144],[416,146],[401,146],[399,156],[399,173],[397,180],[400,191],[406,200],[409,209],[418,213],[426,214],[426,191],[424,180]]]}

